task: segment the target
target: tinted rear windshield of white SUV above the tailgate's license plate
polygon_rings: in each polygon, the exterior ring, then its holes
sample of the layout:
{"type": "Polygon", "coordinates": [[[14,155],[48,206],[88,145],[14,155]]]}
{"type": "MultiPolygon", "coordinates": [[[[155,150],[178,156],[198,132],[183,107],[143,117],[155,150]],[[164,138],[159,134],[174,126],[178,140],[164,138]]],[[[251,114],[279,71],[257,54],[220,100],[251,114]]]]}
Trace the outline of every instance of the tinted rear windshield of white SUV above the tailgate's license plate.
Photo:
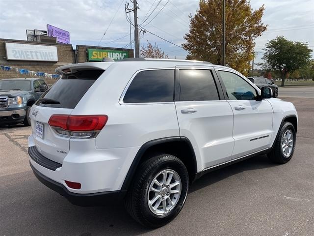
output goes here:
{"type": "Polygon", "coordinates": [[[43,104],[36,102],[38,106],[75,108],[86,91],[94,84],[104,70],[82,70],[73,74],[63,75],[41,98],[49,98],[60,104],[43,104]]]}

